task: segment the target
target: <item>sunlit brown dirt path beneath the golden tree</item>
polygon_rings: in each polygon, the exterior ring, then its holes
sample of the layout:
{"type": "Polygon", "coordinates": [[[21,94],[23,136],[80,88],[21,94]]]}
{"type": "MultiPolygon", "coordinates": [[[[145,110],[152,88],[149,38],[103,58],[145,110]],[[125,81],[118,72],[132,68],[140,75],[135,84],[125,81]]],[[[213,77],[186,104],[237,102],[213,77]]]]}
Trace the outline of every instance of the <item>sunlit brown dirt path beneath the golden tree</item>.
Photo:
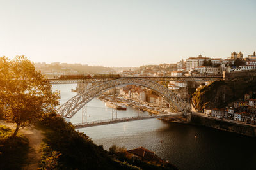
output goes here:
{"type": "MultiPolygon", "coordinates": [[[[6,123],[0,120],[0,125],[5,125],[6,127],[10,127],[15,130],[16,125],[12,123],[6,123]]],[[[42,139],[44,136],[42,135],[42,131],[35,129],[35,127],[24,127],[23,129],[19,129],[19,133],[26,136],[29,139],[29,153],[28,153],[28,163],[24,167],[24,169],[37,169],[38,162],[41,159],[42,153],[40,152],[40,146],[42,143],[42,139]]]]}

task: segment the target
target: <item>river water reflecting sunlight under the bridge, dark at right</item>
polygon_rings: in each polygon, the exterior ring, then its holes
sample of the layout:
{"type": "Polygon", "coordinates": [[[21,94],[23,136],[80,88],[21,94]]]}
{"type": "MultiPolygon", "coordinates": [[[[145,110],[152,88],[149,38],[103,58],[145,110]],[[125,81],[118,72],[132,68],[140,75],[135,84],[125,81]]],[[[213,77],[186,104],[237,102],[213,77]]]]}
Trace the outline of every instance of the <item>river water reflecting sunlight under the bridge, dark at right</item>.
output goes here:
{"type": "MultiPolygon", "coordinates": [[[[60,103],[64,103],[76,95],[71,92],[75,88],[76,85],[54,85],[52,89],[60,90],[60,103]]],[[[148,113],[139,113],[132,107],[127,107],[126,111],[117,111],[118,118],[138,114],[148,113]]],[[[87,104],[88,122],[111,117],[112,109],[105,106],[104,101],[93,99],[87,104]]],[[[80,110],[70,122],[78,123],[81,120],[80,110]]],[[[208,127],[149,119],[87,127],[79,129],[79,132],[84,132],[106,150],[113,144],[127,149],[146,145],[146,148],[179,169],[256,169],[255,138],[208,127]]]]}

